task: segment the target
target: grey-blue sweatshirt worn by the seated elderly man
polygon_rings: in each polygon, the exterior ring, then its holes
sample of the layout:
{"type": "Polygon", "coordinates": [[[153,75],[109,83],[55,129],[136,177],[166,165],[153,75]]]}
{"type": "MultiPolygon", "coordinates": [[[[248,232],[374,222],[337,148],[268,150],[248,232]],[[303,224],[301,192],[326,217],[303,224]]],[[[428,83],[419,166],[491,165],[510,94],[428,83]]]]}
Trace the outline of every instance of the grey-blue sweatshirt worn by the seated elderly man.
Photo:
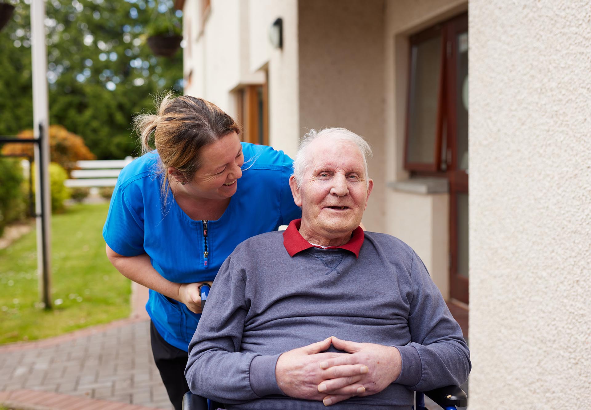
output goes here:
{"type": "Polygon", "coordinates": [[[189,388],[228,409],[326,408],[285,396],[275,364],[329,336],[395,346],[402,357],[394,383],[332,409],[410,409],[413,390],[460,385],[470,372],[460,326],[404,242],[365,232],[359,258],[320,248],[290,257],[276,231],[242,242],[220,268],[189,344],[189,388]]]}

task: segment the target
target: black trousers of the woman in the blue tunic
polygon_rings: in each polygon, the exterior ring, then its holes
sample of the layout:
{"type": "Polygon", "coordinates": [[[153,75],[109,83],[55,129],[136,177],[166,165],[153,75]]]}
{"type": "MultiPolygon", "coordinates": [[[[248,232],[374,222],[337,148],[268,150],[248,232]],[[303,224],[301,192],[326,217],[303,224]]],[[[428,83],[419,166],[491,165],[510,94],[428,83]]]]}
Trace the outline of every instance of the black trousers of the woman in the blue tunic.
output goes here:
{"type": "Polygon", "coordinates": [[[183,408],[184,393],[189,391],[189,385],[187,385],[187,380],[184,377],[184,369],[187,366],[189,354],[166,342],[151,321],[150,340],[154,361],[160,371],[168,398],[173,404],[174,410],[181,410],[183,408]]]}

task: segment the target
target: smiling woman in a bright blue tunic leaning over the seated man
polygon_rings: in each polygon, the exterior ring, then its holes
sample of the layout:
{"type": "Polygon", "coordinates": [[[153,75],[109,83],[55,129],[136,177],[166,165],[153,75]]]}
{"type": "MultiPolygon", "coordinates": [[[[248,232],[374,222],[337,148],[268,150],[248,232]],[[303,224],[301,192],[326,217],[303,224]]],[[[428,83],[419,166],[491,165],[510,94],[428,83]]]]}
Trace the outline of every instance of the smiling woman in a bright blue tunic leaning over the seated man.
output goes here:
{"type": "Polygon", "coordinates": [[[144,155],[119,175],[103,237],[111,263],[151,289],[152,352],[180,409],[200,287],[236,245],[301,211],[289,188],[291,159],[241,142],[238,124],[215,104],[168,94],[135,126],[144,155]]]}

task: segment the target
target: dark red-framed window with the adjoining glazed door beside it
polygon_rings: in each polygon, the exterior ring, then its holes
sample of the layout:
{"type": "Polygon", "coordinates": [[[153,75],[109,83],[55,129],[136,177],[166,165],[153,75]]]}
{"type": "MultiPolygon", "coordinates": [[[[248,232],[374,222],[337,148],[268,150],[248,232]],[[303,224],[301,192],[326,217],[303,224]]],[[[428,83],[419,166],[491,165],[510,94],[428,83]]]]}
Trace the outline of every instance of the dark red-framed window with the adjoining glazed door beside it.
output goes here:
{"type": "Polygon", "coordinates": [[[450,294],[468,302],[467,14],[410,37],[405,169],[450,187],[450,294]]]}

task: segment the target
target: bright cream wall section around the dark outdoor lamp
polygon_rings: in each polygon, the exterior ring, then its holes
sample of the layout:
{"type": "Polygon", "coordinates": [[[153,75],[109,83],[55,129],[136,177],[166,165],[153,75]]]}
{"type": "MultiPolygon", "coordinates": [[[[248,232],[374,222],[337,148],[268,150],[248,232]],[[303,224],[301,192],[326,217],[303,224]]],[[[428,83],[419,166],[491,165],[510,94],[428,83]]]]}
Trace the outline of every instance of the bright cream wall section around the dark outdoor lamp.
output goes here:
{"type": "Polygon", "coordinates": [[[266,67],[269,86],[269,143],[294,157],[300,132],[297,0],[249,1],[250,70],[266,67]],[[283,48],[271,47],[268,29],[283,19],[283,48]]]}

